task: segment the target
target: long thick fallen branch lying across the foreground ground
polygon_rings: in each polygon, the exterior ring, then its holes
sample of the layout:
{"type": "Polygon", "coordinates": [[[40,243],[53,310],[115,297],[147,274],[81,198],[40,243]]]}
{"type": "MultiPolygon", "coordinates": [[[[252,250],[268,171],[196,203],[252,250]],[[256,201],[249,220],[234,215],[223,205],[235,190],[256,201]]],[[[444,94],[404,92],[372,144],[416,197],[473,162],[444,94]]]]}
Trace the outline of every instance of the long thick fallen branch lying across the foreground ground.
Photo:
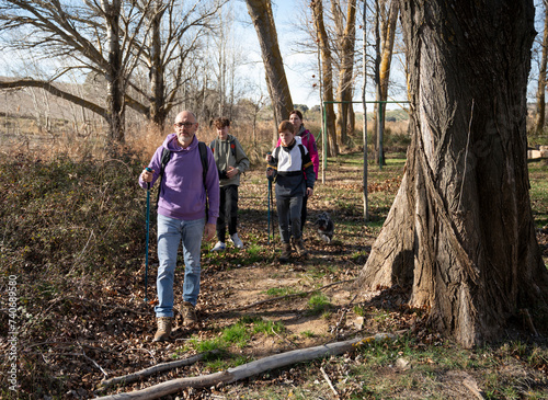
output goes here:
{"type": "MultiPolygon", "coordinates": [[[[403,332],[403,331],[400,331],[403,332]]],[[[399,332],[397,332],[399,333],[399,332]]],[[[262,374],[270,369],[282,368],[288,365],[305,363],[315,358],[327,357],[330,355],[344,354],[354,350],[362,343],[369,343],[372,341],[384,341],[393,339],[397,334],[378,333],[369,338],[356,338],[344,342],[329,343],[316,347],[299,348],[287,353],[271,355],[269,357],[258,359],[248,364],[228,368],[220,373],[202,375],[190,378],[178,378],[158,384],[141,390],[134,390],[128,393],[117,393],[96,398],[98,400],[148,400],[158,399],[162,396],[174,393],[184,388],[204,388],[217,385],[227,385],[235,381],[249,378],[250,376],[262,374]]]]}

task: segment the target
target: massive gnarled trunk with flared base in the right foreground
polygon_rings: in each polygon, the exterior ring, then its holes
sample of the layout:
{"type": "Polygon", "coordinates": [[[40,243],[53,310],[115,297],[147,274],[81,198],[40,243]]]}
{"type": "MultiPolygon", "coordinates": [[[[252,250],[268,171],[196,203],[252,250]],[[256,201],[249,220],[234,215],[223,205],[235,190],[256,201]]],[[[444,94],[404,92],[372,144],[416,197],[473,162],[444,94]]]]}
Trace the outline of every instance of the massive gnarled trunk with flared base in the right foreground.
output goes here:
{"type": "Polygon", "coordinates": [[[526,163],[535,10],[515,0],[400,4],[412,142],[358,282],[409,287],[410,306],[472,346],[521,308],[547,308],[526,163]]]}

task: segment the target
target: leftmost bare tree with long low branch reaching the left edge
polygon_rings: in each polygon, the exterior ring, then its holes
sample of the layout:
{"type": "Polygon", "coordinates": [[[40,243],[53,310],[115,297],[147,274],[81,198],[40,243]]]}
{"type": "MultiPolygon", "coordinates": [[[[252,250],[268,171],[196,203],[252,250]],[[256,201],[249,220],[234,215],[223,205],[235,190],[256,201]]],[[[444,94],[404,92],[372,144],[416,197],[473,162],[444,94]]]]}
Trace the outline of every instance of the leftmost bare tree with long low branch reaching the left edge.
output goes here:
{"type": "MultiPolygon", "coordinates": [[[[148,3],[147,3],[148,5],[148,3]]],[[[111,140],[124,141],[124,93],[136,64],[135,35],[142,26],[135,2],[123,0],[25,1],[0,0],[0,32],[11,34],[4,47],[41,52],[42,57],[66,59],[65,68],[48,80],[14,79],[0,88],[38,87],[102,115],[111,140]],[[125,34],[123,34],[125,33],[125,34]],[[55,81],[69,70],[95,71],[106,78],[106,107],[67,93],[55,81]]]]}

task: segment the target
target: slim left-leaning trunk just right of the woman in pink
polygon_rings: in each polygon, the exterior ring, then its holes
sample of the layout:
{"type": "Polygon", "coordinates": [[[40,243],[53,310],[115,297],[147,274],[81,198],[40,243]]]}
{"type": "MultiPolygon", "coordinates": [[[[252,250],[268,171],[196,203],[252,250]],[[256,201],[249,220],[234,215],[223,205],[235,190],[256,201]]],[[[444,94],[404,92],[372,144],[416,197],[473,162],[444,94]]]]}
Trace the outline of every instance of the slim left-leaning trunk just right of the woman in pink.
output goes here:
{"type": "Polygon", "coordinates": [[[335,130],[335,112],[333,107],[333,72],[331,70],[331,49],[329,46],[328,33],[323,24],[323,4],[322,0],[312,0],[310,3],[312,15],[318,35],[318,43],[321,53],[321,76],[323,88],[323,101],[329,102],[326,107],[326,126],[328,137],[328,156],[334,157],[339,155],[339,146],[336,142],[335,130]]]}

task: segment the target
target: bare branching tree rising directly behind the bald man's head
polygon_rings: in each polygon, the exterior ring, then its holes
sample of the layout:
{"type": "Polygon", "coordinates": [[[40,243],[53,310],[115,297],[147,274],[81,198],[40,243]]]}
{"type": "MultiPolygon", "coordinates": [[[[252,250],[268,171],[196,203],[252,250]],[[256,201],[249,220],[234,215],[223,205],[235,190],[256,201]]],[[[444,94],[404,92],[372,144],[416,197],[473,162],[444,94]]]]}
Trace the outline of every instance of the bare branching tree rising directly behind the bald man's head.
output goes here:
{"type": "MultiPolygon", "coordinates": [[[[145,28],[135,41],[134,52],[141,59],[150,79],[149,88],[132,81],[132,88],[144,94],[146,102],[130,98],[128,105],[163,130],[165,118],[181,104],[181,88],[196,79],[198,68],[185,68],[199,58],[201,41],[217,28],[218,15],[227,0],[184,2],[178,0],[138,0],[145,15],[145,28]],[[149,5],[148,2],[151,1],[149,5]]],[[[222,102],[221,102],[222,103],[222,102]]]]}

